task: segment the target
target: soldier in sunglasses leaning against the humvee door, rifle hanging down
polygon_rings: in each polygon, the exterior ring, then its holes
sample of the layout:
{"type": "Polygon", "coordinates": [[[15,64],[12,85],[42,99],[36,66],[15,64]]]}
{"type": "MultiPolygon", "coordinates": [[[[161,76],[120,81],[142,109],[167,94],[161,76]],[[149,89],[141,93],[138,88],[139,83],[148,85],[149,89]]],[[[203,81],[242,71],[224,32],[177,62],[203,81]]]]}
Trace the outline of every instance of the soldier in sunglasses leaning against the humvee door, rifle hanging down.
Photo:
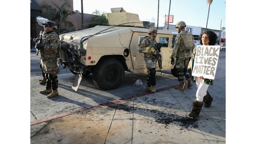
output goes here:
{"type": "MultiPolygon", "coordinates": [[[[156,92],[156,61],[154,59],[156,58],[157,52],[157,43],[155,39],[157,36],[157,31],[158,30],[154,27],[149,28],[149,37],[146,37],[141,41],[139,49],[139,52],[144,53],[144,60],[148,69],[146,92],[151,91],[152,93],[156,92]],[[152,89],[150,88],[151,85],[152,89]]],[[[158,51],[160,52],[160,48],[158,51]]]]}

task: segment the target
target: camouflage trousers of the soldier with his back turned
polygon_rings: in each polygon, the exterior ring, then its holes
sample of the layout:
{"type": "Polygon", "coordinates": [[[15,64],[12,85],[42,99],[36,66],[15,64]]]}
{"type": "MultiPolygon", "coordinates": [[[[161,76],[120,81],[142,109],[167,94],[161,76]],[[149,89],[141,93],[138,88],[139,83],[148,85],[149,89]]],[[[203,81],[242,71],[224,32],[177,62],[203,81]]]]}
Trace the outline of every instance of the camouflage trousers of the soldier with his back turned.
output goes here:
{"type": "Polygon", "coordinates": [[[190,58],[176,58],[175,67],[178,71],[179,83],[184,83],[184,76],[187,74],[188,64],[190,58]]]}

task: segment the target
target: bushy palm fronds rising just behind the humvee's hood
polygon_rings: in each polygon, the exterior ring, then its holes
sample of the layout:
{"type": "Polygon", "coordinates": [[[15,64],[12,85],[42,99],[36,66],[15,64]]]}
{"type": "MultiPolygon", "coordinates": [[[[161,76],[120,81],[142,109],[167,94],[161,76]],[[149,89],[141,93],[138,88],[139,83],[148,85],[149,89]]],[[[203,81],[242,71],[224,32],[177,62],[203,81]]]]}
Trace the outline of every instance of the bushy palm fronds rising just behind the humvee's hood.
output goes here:
{"type": "Polygon", "coordinates": [[[105,12],[100,12],[99,10],[96,9],[96,11],[93,12],[92,14],[95,14],[96,16],[90,19],[90,23],[98,23],[98,24],[90,24],[88,28],[95,27],[96,25],[109,26],[107,14],[105,12]]]}

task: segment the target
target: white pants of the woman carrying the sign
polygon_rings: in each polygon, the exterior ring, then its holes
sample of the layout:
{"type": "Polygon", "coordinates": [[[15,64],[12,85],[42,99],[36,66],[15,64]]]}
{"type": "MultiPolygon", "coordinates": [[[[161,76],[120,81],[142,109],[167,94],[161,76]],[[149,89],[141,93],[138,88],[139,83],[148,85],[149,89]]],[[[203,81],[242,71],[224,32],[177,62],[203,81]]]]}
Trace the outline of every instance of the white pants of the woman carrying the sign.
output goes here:
{"type": "Polygon", "coordinates": [[[204,80],[201,83],[201,79],[199,77],[195,77],[195,79],[196,79],[196,86],[197,86],[196,100],[198,100],[199,102],[202,102],[204,96],[207,94],[206,91],[209,85],[206,84],[204,80]]]}

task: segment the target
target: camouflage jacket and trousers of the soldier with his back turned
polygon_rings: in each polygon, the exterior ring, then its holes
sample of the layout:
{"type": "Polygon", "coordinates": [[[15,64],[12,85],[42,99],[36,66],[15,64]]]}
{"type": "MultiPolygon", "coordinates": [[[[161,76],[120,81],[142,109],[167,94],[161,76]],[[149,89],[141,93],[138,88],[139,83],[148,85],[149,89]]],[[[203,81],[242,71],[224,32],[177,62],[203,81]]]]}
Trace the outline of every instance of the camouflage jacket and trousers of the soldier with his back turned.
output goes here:
{"type": "Polygon", "coordinates": [[[184,73],[186,74],[187,72],[187,67],[189,59],[191,58],[192,55],[193,48],[195,48],[193,35],[190,32],[182,30],[175,38],[173,52],[171,55],[171,58],[176,58],[175,67],[178,69],[178,80],[180,84],[184,83],[184,73]],[[193,47],[186,48],[184,44],[184,39],[190,39],[190,45],[193,45],[193,47]]]}

